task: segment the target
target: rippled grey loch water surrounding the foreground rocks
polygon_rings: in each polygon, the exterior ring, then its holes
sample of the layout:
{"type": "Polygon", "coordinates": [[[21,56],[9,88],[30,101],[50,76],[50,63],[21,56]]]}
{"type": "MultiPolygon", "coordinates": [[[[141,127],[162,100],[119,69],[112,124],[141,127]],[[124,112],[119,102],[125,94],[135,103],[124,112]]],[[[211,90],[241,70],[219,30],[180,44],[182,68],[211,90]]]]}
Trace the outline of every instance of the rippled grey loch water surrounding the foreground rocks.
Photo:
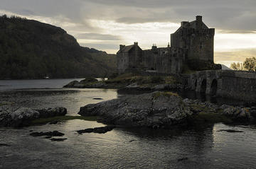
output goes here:
{"type": "MultiPolygon", "coordinates": [[[[0,102],[64,106],[69,115],[76,115],[80,106],[102,101],[93,98],[119,96],[115,90],[61,88],[72,80],[0,81],[0,102]]],[[[0,128],[0,144],[9,145],[0,146],[0,168],[256,168],[253,126],[215,124],[185,131],[117,127],[106,134],[75,132],[101,126],[104,124],[70,120],[22,129],[0,128]],[[218,132],[220,129],[242,132],[218,132]],[[58,130],[67,140],[36,138],[28,135],[31,130],[58,130]]]]}

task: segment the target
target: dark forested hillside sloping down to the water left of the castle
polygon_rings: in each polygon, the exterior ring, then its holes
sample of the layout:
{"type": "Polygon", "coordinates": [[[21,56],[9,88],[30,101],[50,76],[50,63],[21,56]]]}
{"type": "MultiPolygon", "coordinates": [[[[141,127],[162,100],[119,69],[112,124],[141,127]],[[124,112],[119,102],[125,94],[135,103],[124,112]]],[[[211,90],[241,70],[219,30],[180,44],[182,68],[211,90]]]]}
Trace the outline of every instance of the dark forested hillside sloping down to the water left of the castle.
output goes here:
{"type": "Polygon", "coordinates": [[[62,28],[0,16],[0,79],[100,77],[115,67],[115,54],[80,47],[62,28]]]}

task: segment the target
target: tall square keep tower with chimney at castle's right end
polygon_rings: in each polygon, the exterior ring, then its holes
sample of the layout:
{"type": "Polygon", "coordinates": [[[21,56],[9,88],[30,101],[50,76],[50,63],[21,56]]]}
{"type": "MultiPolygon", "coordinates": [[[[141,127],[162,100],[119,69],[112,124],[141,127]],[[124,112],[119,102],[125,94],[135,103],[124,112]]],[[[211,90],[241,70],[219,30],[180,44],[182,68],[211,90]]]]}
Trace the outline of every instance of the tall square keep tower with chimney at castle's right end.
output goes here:
{"type": "Polygon", "coordinates": [[[188,49],[187,62],[208,62],[213,64],[214,28],[208,28],[202,16],[196,21],[181,22],[181,27],[171,34],[171,47],[188,49]]]}

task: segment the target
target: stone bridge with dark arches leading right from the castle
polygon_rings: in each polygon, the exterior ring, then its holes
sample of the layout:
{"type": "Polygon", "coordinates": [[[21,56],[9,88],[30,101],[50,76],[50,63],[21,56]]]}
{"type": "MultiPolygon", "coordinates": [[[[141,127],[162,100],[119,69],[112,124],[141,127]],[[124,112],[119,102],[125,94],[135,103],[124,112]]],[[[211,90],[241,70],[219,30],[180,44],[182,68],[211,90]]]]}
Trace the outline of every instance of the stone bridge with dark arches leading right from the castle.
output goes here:
{"type": "Polygon", "coordinates": [[[256,74],[248,71],[197,71],[188,87],[200,93],[256,101],[256,74]]]}

